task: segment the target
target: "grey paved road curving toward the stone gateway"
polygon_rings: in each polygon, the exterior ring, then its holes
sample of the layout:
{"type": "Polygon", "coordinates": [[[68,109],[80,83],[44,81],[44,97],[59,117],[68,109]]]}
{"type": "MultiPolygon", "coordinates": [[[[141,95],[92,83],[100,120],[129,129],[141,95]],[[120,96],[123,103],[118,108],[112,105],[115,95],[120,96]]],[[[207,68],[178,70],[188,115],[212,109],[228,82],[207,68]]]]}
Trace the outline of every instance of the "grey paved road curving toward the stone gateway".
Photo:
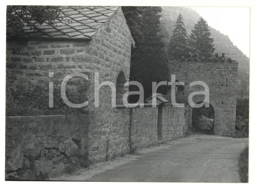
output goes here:
{"type": "Polygon", "coordinates": [[[248,138],[190,136],[141,152],[125,164],[86,181],[240,182],[238,157],[248,138]]]}

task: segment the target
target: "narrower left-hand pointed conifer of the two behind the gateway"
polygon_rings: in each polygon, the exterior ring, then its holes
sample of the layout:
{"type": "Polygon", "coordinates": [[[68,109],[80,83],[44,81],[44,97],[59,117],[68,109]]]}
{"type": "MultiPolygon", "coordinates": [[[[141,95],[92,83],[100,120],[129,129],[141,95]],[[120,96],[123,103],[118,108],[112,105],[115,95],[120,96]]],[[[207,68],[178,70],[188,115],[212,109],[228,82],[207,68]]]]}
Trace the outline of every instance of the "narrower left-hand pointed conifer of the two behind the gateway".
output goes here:
{"type": "Polygon", "coordinates": [[[188,36],[183,23],[183,17],[180,13],[171,36],[168,57],[173,60],[180,60],[182,56],[188,53],[188,36]]]}

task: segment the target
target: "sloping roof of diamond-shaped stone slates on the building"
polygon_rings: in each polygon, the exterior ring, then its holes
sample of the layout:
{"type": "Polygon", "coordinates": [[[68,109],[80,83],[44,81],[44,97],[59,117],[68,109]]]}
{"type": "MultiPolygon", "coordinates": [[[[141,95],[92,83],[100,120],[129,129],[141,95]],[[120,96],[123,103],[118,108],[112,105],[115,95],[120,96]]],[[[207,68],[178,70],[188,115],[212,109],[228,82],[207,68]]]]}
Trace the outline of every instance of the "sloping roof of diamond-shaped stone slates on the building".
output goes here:
{"type": "Polygon", "coordinates": [[[117,6],[61,6],[63,20],[56,20],[55,27],[47,23],[37,26],[35,32],[24,27],[26,37],[91,39],[106,20],[113,15],[117,6]]]}

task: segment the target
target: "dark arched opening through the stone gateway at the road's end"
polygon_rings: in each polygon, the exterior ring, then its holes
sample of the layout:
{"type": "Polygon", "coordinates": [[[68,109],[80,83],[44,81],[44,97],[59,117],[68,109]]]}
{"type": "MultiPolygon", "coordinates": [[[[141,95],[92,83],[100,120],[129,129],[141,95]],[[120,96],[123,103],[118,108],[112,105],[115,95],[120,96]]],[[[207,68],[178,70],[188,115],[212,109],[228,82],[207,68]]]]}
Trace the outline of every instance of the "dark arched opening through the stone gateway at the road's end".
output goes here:
{"type": "MultiPolygon", "coordinates": [[[[198,102],[200,104],[202,102],[198,102]]],[[[214,133],[214,108],[211,104],[209,107],[202,106],[192,109],[192,132],[205,134],[214,133]]]]}

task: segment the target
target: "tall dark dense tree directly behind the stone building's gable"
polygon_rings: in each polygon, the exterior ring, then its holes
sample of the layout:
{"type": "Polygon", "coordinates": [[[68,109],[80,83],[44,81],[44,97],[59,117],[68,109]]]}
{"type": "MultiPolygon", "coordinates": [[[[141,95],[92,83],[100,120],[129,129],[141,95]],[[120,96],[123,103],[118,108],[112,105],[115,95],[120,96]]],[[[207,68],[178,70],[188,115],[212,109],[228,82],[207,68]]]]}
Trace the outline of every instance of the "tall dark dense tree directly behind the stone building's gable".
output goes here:
{"type": "MultiPolygon", "coordinates": [[[[130,80],[143,85],[145,98],[152,95],[152,82],[168,79],[168,60],[160,36],[161,7],[122,7],[135,41],[132,49],[130,80]]],[[[130,90],[138,90],[130,86],[130,90]]],[[[163,93],[163,88],[159,88],[163,93]]],[[[130,98],[136,101],[136,98],[130,98]]]]}

